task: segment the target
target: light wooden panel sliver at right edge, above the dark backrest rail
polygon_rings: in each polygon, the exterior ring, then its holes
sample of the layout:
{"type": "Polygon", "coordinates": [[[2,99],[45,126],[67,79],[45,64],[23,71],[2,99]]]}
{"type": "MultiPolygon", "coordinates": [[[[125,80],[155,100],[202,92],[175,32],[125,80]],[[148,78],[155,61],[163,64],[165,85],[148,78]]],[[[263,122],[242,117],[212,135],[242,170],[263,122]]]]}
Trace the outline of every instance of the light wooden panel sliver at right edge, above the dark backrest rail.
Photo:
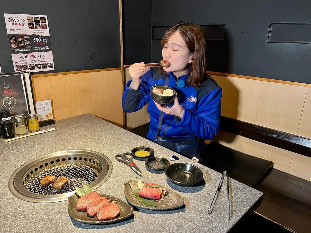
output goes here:
{"type": "Polygon", "coordinates": [[[302,111],[298,135],[311,139],[311,87],[308,88],[304,101],[304,110],[302,111]]]}

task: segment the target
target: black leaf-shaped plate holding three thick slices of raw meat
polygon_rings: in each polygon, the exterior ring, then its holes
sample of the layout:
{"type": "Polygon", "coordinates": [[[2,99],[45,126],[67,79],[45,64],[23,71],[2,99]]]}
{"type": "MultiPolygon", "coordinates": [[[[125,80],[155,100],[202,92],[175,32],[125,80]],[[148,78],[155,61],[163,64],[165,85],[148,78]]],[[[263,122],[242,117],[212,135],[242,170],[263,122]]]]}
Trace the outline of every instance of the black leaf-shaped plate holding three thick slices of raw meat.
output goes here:
{"type": "Polygon", "coordinates": [[[128,203],[122,201],[121,199],[118,199],[116,197],[113,197],[107,194],[100,193],[100,196],[107,198],[109,202],[110,200],[115,200],[116,204],[120,208],[120,214],[118,215],[118,217],[105,220],[105,221],[97,221],[97,217],[88,217],[86,211],[85,212],[77,211],[76,206],[77,206],[78,197],[76,194],[73,194],[72,196],[68,198],[68,210],[71,213],[72,218],[78,222],[100,225],[100,224],[109,224],[109,223],[119,222],[133,215],[133,207],[130,206],[128,203]]]}

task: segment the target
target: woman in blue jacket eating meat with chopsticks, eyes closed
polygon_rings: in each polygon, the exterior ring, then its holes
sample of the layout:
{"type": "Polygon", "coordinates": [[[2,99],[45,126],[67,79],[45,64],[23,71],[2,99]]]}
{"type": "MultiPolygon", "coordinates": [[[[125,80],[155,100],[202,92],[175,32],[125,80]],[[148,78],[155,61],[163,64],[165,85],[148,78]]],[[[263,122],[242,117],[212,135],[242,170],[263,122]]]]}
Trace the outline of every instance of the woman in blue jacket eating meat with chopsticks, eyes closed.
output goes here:
{"type": "Polygon", "coordinates": [[[206,37],[200,25],[179,22],[161,40],[163,60],[169,67],[129,67],[132,77],[125,86],[122,107],[135,112],[149,103],[150,128],[147,138],[202,163],[199,147],[219,131],[220,86],[206,74],[206,37]],[[166,85],[177,91],[168,106],[154,102],[152,86],[166,85]],[[193,158],[196,157],[196,158],[193,158]]]}

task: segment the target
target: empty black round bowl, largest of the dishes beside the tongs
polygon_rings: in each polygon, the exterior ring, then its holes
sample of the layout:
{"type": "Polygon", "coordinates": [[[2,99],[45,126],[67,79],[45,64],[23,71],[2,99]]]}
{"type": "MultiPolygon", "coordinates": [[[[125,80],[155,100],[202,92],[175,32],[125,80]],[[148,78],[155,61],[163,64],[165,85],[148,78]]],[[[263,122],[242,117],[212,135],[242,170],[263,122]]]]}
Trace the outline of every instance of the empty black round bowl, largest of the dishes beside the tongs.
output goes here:
{"type": "Polygon", "coordinates": [[[191,187],[203,179],[203,172],[189,163],[173,163],[165,168],[165,175],[176,185],[191,187]]]}

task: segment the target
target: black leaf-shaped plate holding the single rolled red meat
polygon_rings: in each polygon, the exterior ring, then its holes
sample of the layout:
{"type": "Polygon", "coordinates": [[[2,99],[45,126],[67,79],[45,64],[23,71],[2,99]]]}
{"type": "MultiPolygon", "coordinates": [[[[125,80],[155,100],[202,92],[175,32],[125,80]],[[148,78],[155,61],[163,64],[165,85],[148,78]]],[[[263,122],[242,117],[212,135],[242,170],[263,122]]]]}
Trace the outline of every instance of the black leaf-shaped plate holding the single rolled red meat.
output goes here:
{"type": "MultiPolygon", "coordinates": [[[[130,180],[132,184],[136,184],[136,180],[130,180]]],[[[161,185],[160,185],[161,186],[161,185]]],[[[163,187],[163,186],[161,186],[163,187]]],[[[163,187],[166,188],[166,187],[163,187]]],[[[183,197],[179,194],[167,189],[167,194],[164,196],[163,202],[156,202],[157,206],[145,206],[137,199],[137,197],[132,194],[132,189],[130,185],[127,183],[124,184],[124,195],[127,199],[128,203],[130,203],[133,206],[136,206],[137,208],[142,209],[150,209],[150,210],[170,210],[170,209],[176,209],[184,205],[183,197]]]]}

